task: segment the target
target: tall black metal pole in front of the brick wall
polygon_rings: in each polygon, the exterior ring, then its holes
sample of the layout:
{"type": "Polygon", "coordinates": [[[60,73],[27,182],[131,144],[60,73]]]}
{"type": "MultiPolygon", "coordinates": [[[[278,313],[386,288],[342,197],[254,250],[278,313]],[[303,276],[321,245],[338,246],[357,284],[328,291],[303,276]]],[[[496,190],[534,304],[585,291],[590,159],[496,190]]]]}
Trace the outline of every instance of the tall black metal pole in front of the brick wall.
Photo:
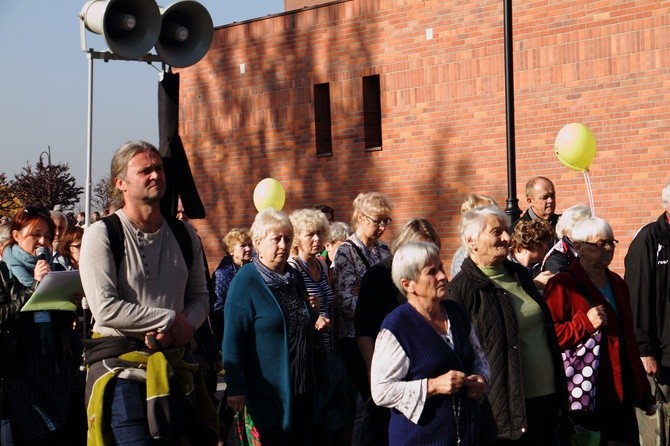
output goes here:
{"type": "Polygon", "coordinates": [[[516,145],[514,134],[514,61],[512,35],[512,0],[503,0],[505,22],[505,111],[507,117],[507,207],[510,223],[521,216],[516,198],[516,145]]]}

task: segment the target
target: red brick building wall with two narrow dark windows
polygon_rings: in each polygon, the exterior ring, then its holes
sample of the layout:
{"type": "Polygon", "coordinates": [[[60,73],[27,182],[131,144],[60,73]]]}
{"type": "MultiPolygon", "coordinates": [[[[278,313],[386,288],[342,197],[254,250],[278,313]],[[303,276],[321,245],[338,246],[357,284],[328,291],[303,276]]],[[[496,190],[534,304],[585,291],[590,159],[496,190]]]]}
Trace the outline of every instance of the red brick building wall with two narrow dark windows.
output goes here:
{"type": "MultiPolygon", "coordinates": [[[[553,150],[563,125],[588,125],[596,214],[622,242],[621,273],[670,178],[670,2],[517,0],[513,19],[519,207],[534,175],[554,181],[559,212],[588,204],[582,174],[553,150]]],[[[357,193],[384,192],[395,204],[385,239],[428,218],[448,263],[463,198],[507,199],[503,52],[500,1],[344,0],[217,28],[207,56],[180,70],[210,262],[273,177],[285,211],[326,202],[336,219],[357,193]]]]}

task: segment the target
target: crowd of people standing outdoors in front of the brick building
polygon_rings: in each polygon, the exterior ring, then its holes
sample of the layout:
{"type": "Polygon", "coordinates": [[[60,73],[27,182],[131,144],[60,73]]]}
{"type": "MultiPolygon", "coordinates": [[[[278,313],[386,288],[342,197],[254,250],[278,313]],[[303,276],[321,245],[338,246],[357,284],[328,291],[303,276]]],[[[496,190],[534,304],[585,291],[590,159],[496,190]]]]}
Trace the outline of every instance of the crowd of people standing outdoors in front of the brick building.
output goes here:
{"type": "Polygon", "coordinates": [[[3,446],[568,445],[575,426],[636,445],[636,408],[670,390],[670,183],[625,280],[613,228],[584,205],[556,213],[544,177],[511,225],[493,198],[464,200],[449,280],[430,221],[381,240],[379,192],[350,224],[324,204],[261,210],[210,277],[183,209],[161,213],[158,151],[124,144],[111,178],[118,210],[86,229],[36,207],[0,225],[3,446]],[[79,271],[61,299],[76,310],[21,311],[52,271],[79,271]],[[562,352],[590,339],[584,409],[562,352]]]}

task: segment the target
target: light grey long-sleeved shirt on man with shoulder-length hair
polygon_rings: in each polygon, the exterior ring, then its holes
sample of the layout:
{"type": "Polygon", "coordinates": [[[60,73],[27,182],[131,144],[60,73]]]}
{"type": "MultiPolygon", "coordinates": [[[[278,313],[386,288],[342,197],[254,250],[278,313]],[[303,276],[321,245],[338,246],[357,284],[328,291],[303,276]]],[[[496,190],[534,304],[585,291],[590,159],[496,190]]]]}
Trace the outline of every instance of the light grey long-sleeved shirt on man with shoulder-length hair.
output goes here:
{"type": "Polygon", "coordinates": [[[80,274],[95,318],[93,330],[144,339],[148,331],[169,330],[178,312],[198,328],[207,317],[209,295],[202,245],[193,227],[186,224],[193,246],[188,270],[165,220],[156,233],[147,234],[133,227],[123,210],[116,214],[125,235],[118,276],[103,222],[89,226],[81,244],[80,274]]]}

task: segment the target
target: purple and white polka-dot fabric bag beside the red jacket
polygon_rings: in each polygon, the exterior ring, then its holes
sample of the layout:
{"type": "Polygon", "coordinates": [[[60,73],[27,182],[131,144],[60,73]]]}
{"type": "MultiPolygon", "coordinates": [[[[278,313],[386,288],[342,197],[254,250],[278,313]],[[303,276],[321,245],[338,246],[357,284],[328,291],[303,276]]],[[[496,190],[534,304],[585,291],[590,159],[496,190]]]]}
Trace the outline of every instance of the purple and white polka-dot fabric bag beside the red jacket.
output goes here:
{"type": "Polygon", "coordinates": [[[600,363],[600,330],[586,342],[561,353],[568,383],[570,410],[593,412],[596,408],[596,379],[600,363]]]}

